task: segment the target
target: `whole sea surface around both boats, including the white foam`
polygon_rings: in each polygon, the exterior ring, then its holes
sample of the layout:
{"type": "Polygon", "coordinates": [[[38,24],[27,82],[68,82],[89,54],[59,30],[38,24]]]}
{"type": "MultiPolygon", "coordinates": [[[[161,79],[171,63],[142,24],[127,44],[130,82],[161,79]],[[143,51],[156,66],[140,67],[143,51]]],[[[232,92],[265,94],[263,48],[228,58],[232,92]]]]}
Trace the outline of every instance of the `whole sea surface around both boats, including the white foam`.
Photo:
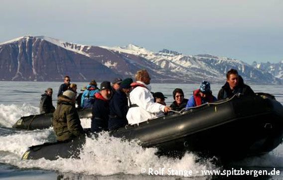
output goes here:
{"type": "MultiPolygon", "coordinates": [[[[211,159],[198,161],[193,153],[186,153],[181,159],[158,157],[155,148],[141,148],[137,142],[125,142],[102,133],[98,139],[87,138],[80,159],[58,159],[49,161],[21,160],[28,147],[54,141],[52,128],[34,131],[12,129],[12,125],[22,116],[39,113],[41,94],[48,87],[53,88],[53,105],[56,106],[60,82],[3,82],[0,81],[0,179],[7,180],[171,180],[215,177],[200,172],[222,170],[211,159]],[[151,172],[151,173],[150,173],[151,172]],[[168,174],[170,172],[171,174],[168,174]],[[173,173],[172,173],[173,172],[173,173]],[[188,172],[192,174],[186,176],[188,172]],[[199,172],[199,173],[196,173],[199,172]],[[149,175],[148,175],[149,174],[149,175]]],[[[78,92],[87,83],[77,83],[78,92]]],[[[183,89],[185,98],[190,98],[198,84],[151,84],[152,92],[160,91],[166,97],[167,105],[173,101],[172,91],[183,89]]],[[[211,85],[217,96],[221,85],[211,85]]],[[[267,92],[283,103],[283,86],[252,85],[255,92],[267,92]]],[[[90,127],[90,119],[81,119],[84,128],[90,127]]],[[[231,155],[233,156],[233,154],[231,155]]],[[[283,179],[283,145],[271,153],[241,162],[233,162],[235,169],[280,171],[280,175],[261,176],[262,179],[283,179]]],[[[219,178],[220,176],[217,176],[219,178]]],[[[243,179],[245,176],[241,176],[243,179]]],[[[225,179],[226,177],[224,177],[225,179]]],[[[241,179],[240,178],[240,179],[241,179]]],[[[253,178],[246,176],[246,178],[253,178]]]]}

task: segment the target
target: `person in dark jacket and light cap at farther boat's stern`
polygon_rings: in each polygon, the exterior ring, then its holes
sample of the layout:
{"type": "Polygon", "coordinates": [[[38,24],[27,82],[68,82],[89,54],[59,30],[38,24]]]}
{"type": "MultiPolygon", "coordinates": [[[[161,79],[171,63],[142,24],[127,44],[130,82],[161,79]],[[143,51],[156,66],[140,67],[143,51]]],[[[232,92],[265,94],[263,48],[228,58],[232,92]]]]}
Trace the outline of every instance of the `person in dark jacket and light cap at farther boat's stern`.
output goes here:
{"type": "Polygon", "coordinates": [[[55,107],[52,104],[52,88],[47,88],[45,93],[41,95],[39,109],[40,113],[53,113],[55,111],[55,107]]]}

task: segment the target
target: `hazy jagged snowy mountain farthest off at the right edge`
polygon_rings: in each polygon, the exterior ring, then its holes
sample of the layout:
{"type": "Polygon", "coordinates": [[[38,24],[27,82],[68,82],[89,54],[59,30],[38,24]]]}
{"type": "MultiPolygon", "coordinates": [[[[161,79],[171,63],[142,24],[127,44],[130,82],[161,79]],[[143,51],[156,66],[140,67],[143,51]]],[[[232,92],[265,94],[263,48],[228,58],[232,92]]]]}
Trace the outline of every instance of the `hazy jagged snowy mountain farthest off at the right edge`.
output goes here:
{"type": "Polygon", "coordinates": [[[265,72],[271,73],[273,76],[283,79],[283,60],[279,63],[257,63],[253,62],[253,67],[257,69],[261,69],[265,72]]]}

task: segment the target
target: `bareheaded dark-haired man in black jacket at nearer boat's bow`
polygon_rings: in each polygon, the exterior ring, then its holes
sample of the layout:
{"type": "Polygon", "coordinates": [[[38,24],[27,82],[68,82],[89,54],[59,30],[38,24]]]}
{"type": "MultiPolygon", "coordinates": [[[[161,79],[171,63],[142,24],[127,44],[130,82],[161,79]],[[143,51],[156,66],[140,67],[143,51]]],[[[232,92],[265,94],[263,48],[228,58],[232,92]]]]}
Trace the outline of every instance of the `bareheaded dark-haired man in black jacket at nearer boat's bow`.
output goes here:
{"type": "MultiPolygon", "coordinates": [[[[238,71],[230,69],[226,74],[227,82],[218,92],[217,99],[231,98],[235,94],[241,93],[245,95],[254,95],[254,91],[250,86],[244,84],[243,79],[239,79],[238,71]]],[[[241,77],[242,78],[242,77],[241,77]]]]}

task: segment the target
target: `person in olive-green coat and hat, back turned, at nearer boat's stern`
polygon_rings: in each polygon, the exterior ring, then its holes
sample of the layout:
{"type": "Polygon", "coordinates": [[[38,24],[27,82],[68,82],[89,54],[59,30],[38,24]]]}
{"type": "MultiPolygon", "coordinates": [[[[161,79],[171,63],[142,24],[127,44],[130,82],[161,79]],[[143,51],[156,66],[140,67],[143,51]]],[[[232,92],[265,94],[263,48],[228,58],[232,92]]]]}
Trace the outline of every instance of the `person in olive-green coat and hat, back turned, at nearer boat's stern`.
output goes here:
{"type": "Polygon", "coordinates": [[[57,141],[68,141],[84,134],[78,112],[75,108],[76,93],[67,90],[59,96],[53,113],[53,129],[57,141]]]}

